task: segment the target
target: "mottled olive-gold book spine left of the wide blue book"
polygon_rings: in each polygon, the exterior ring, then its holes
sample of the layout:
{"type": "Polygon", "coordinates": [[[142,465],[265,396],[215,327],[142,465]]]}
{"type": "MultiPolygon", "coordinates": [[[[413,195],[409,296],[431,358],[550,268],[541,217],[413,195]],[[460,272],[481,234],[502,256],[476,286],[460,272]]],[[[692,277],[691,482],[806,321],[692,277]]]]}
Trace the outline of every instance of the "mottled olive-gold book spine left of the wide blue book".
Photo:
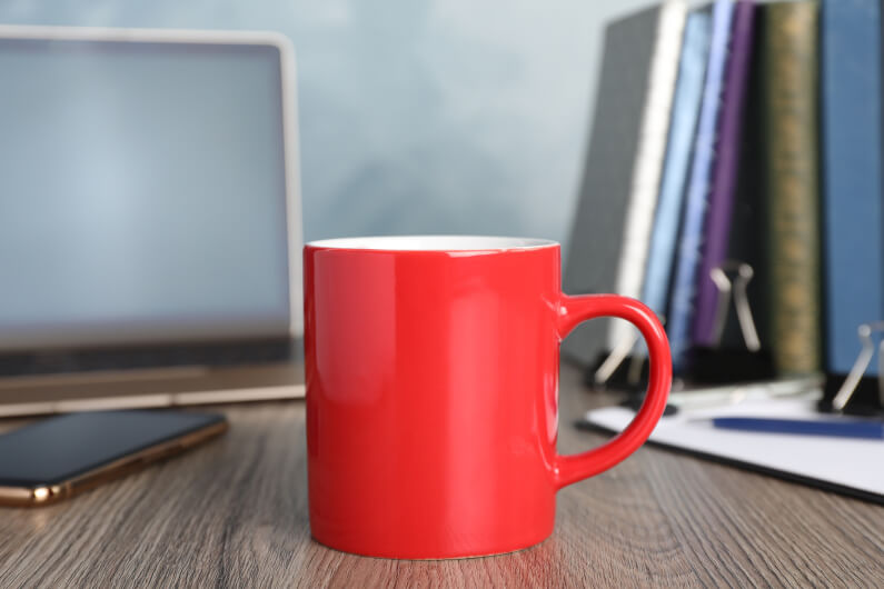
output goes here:
{"type": "Polygon", "coordinates": [[[765,7],[771,346],[782,375],[821,368],[817,2],[765,7]]]}

